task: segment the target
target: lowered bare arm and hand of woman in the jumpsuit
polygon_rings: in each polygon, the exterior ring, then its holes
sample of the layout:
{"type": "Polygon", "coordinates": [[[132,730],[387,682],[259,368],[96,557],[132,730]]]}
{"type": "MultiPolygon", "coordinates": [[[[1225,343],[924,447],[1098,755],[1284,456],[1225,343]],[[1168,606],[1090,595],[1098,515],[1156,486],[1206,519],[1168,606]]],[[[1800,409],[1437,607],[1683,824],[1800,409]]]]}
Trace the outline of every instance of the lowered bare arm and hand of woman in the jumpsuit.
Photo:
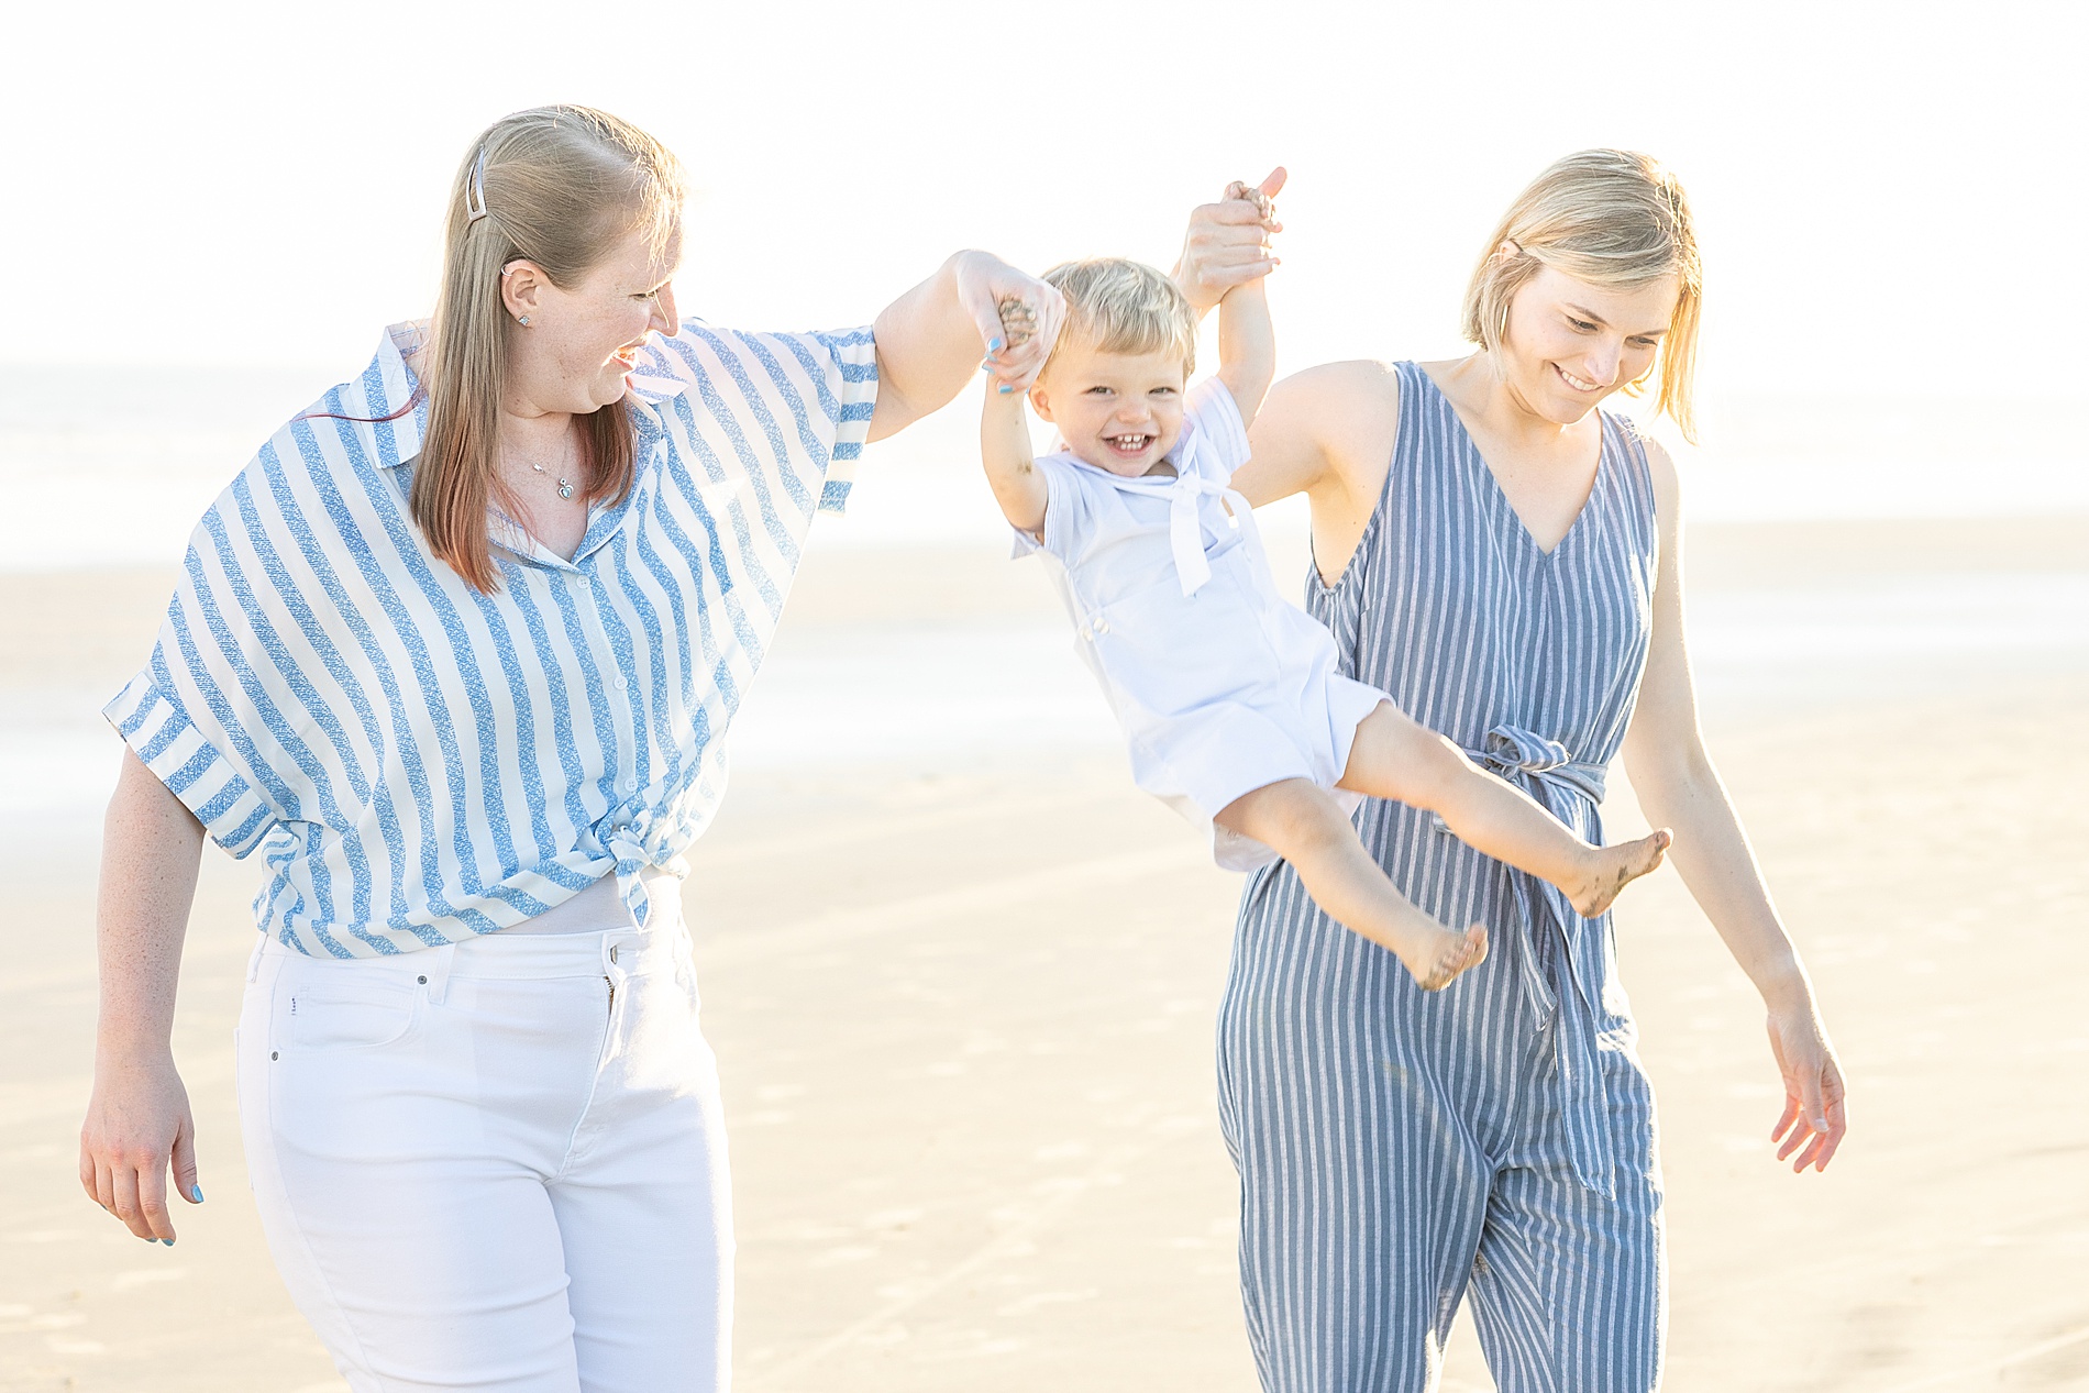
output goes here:
{"type": "Polygon", "coordinates": [[[1661,518],[1661,574],[1646,679],[1625,733],[1625,771],[1646,817],[1675,829],[1669,858],[1769,1009],[1769,1048],[1784,1076],[1784,1115],[1771,1132],[1784,1142],[1778,1159],[1797,1153],[1792,1170],[1826,1170],[1847,1130],[1842,1067],[1748,833],[1705,752],[1684,643],[1680,487],[1667,451],[1648,443],[1646,453],[1661,518]]]}

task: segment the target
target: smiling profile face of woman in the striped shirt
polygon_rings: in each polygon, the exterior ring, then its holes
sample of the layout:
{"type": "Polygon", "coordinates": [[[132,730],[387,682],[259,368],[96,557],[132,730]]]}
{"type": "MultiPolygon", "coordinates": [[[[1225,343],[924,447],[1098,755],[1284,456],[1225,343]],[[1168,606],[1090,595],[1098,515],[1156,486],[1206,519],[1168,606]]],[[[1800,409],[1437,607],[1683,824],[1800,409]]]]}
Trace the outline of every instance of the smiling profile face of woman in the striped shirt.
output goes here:
{"type": "Polygon", "coordinates": [[[631,232],[572,286],[554,286],[529,261],[512,261],[508,307],[529,324],[510,330],[510,391],[537,411],[587,414],[623,401],[646,336],[681,328],[679,261],[679,232],[658,251],[631,232]]]}

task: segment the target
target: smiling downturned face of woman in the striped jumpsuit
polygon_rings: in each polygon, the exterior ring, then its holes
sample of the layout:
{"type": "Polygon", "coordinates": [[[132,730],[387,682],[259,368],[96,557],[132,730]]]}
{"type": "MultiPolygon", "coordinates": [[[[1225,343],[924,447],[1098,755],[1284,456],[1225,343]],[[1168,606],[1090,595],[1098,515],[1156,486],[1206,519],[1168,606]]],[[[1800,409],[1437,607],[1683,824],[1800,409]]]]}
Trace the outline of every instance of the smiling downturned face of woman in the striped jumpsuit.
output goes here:
{"type": "Polygon", "coordinates": [[[1677,294],[1673,276],[1611,288],[1540,267],[1508,303],[1508,334],[1496,351],[1504,384],[1544,420],[1581,420],[1652,370],[1677,294]]]}

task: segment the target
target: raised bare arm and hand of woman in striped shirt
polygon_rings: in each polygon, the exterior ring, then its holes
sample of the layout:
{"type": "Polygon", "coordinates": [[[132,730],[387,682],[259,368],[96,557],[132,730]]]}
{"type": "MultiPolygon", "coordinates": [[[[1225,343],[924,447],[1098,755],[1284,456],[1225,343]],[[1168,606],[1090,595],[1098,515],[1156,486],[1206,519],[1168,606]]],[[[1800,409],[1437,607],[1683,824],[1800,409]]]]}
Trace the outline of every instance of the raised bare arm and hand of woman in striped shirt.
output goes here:
{"type": "Polygon", "coordinates": [[[871,439],[896,434],[946,405],[982,368],[1011,391],[1026,391],[1044,368],[1063,315],[1065,299],[1036,276],[984,251],[953,255],[877,315],[871,439]],[[1009,299],[1036,309],[1036,332],[1019,345],[1001,340],[1001,301],[1009,299]]]}

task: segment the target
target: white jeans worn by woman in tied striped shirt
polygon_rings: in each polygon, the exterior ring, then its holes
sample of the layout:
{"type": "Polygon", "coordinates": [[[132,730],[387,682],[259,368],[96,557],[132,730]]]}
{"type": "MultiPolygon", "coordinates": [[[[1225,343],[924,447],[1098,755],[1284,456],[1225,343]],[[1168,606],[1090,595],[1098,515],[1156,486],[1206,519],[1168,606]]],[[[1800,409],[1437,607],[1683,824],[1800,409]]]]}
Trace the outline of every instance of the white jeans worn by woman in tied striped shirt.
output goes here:
{"type": "Polygon", "coordinates": [[[255,952],[247,1163],[355,1393],[727,1387],[719,1069],[671,908],[393,959],[255,952]]]}

